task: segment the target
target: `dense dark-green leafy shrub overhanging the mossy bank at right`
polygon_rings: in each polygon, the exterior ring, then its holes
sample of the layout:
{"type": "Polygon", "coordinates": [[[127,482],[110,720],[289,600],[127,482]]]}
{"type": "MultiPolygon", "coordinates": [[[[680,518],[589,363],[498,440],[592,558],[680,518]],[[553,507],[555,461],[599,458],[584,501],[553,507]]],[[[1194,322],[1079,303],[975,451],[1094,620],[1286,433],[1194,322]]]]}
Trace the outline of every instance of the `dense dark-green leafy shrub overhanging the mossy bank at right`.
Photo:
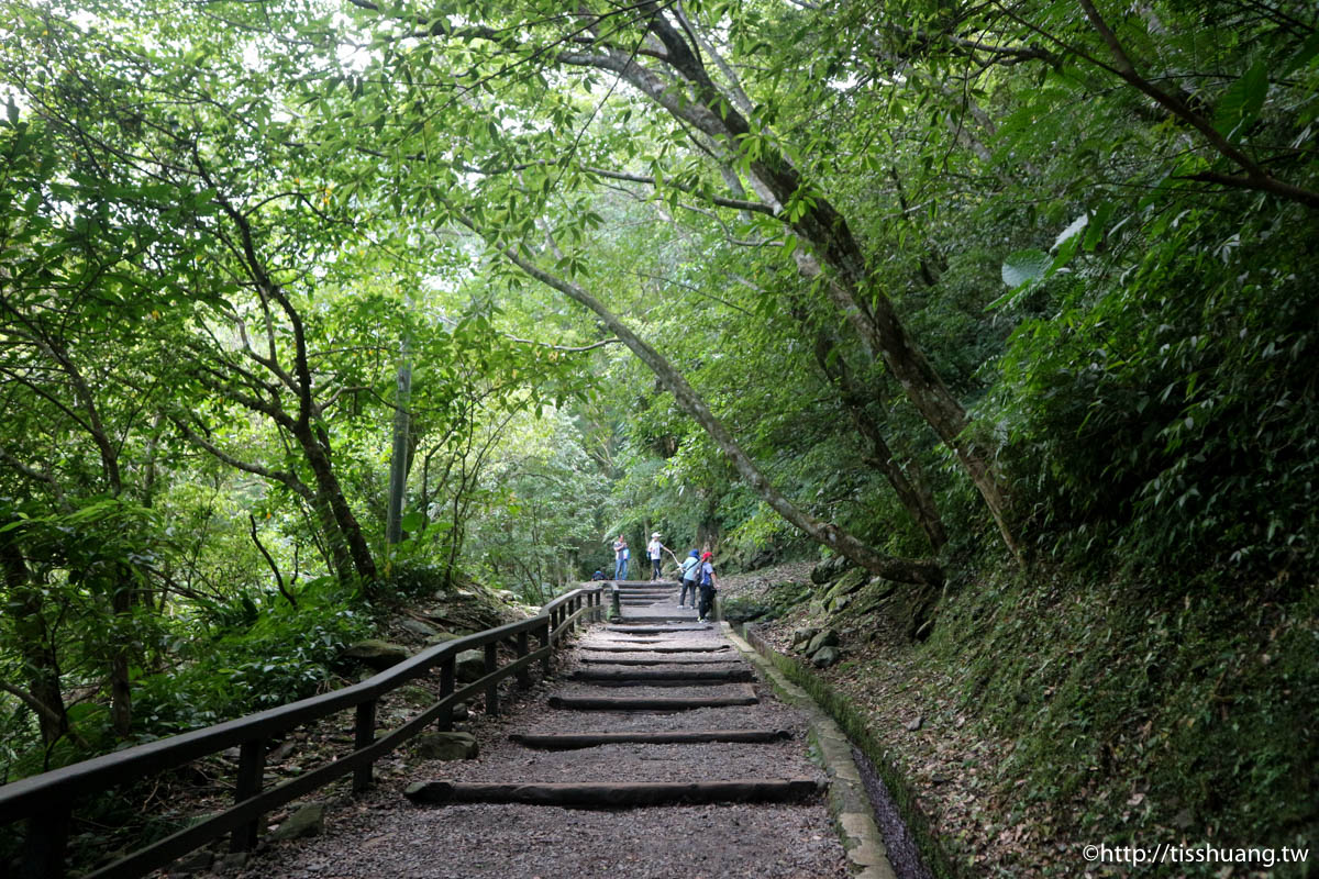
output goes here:
{"type": "Polygon", "coordinates": [[[1018,509],[1072,560],[1121,547],[1183,573],[1302,571],[1319,536],[1319,278],[1275,225],[1187,213],[1157,220],[1165,240],[1124,273],[1115,258],[1055,283],[1054,308],[1013,335],[991,409],[1018,509]]]}

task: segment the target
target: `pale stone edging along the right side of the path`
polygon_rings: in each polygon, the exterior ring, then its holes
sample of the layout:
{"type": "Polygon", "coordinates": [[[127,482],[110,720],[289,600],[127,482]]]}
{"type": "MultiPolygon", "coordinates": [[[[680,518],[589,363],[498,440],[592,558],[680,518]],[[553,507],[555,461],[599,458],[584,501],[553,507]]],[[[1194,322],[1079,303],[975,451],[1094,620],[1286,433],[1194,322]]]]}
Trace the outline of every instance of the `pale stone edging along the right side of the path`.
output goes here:
{"type": "Polygon", "coordinates": [[[781,698],[810,714],[811,739],[830,776],[830,812],[838,822],[847,858],[859,879],[896,879],[884,838],[874,824],[861,774],[852,759],[852,746],[847,735],[805,689],[783,677],[782,672],[747,643],[732,626],[727,622],[720,626],[728,640],[760,669],[781,698]]]}

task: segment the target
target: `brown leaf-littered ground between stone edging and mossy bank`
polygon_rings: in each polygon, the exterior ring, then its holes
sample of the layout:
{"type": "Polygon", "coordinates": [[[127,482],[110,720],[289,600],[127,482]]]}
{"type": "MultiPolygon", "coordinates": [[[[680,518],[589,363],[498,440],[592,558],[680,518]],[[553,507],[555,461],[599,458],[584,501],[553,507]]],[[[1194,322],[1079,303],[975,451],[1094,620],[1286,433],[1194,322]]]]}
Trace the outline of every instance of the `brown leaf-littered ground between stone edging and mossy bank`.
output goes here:
{"type": "MultiPolygon", "coordinates": [[[[720,593],[724,600],[760,598],[776,582],[810,582],[813,567],[793,563],[724,576],[720,593]]],[[[1022,879],[1082,875],[1083,842],[1059,838],[1045,809],[1022,809],[1012,800],[1013,785],[998,779],[998,762],[1013,743],[987,737],[973,712],[959,704],[958,681],[923,662],[901,631],[880,619],[849,627],[831,621],[816,602],[756,623],[783,654],[793,652],[793,630],[840,625],[843,662],[816,673],[867,717],[960,871],[1022,879]]]]}

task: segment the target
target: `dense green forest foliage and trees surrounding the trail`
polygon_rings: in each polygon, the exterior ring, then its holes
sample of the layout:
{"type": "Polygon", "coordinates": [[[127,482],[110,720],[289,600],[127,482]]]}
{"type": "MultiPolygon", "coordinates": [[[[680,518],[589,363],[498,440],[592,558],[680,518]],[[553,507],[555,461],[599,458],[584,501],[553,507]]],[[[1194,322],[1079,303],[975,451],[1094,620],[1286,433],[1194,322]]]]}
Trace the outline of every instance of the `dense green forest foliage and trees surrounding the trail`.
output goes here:
{"type": "MultiPolygon", "coordinates": [[[[972,654],[980,569],[1067,571],[1122,631],[1194,601],[1130,635],[1170,668],[1253,608],[1312,696],[1312,5],[3,8],[11,778],[313,692],[401,593],[538,604],[656,530],[828,547],[972,654]]],[[[1293,758],[1249,796],[1291,797],[1314,734],[1260,675],[1293,758]]],[[[995,722],[1055,737],[1079,680],[995,722]]]]}

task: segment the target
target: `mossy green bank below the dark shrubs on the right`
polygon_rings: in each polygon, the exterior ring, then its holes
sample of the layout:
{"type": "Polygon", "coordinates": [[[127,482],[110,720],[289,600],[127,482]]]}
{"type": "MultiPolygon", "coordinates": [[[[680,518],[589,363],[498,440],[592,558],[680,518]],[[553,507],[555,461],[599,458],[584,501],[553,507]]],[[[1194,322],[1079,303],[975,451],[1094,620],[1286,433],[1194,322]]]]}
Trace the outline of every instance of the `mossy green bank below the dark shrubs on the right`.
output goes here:
{"type": "Polygon", "coordinates": [[[1295,846],[1319,837],[1316,604],[1224,580],[1001,577],[950,601],[922,651],[1016,742],[1000,781],[1059,829],[1295,846]]]}

